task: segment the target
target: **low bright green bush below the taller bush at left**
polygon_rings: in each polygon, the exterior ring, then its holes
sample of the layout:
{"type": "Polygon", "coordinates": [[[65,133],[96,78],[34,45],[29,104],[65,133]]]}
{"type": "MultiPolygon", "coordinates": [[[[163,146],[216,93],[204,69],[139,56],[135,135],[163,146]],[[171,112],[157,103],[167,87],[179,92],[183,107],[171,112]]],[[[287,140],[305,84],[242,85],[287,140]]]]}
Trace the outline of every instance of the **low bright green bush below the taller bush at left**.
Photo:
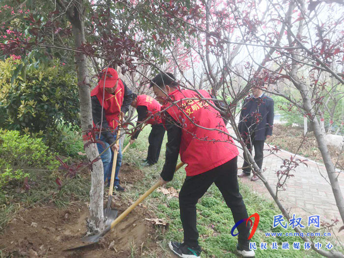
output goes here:
{"type": "Polygon", "coordinates": [[[8,183],[23,183],[29,177],[28,168],[54,170],[58,164],[42,139],[0,130],[0,189],[8,183]]]}

